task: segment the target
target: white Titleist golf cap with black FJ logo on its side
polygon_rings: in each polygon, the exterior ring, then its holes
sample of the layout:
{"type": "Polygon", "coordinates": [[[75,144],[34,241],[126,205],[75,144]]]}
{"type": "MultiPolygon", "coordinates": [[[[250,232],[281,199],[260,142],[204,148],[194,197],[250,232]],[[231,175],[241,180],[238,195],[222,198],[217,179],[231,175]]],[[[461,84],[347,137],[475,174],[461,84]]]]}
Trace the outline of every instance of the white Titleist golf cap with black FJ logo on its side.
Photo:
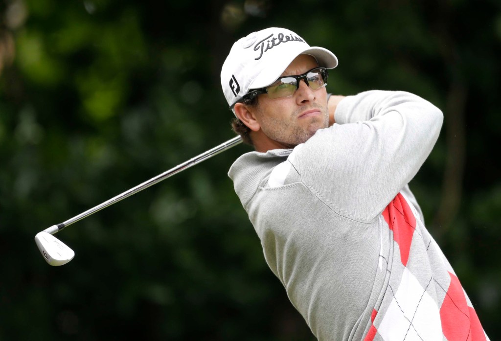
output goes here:
{"type": "Polygon", "coordinates": [[[327,49],[311,47],[296,33],[272,27],[236,41],[221,69],[221,86],[228,105],[251,89],[275,82],[299,55],[315,57],[320,67],[334,69],[336,56],[327,49]]]}

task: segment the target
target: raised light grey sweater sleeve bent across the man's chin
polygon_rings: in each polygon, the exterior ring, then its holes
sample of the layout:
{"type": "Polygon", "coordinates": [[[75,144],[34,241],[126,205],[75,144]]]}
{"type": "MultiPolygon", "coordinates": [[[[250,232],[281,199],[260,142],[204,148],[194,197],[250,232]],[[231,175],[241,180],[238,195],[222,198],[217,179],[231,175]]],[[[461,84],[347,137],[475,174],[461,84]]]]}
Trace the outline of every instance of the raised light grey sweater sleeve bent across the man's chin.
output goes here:
{"type": "Polygon", "coordinates": [[[336,213],[373,221],[415,176],[435,144],[441,111],[406,92],[343,99],[336,123],[296,147],[305,185],[336,213]]]}

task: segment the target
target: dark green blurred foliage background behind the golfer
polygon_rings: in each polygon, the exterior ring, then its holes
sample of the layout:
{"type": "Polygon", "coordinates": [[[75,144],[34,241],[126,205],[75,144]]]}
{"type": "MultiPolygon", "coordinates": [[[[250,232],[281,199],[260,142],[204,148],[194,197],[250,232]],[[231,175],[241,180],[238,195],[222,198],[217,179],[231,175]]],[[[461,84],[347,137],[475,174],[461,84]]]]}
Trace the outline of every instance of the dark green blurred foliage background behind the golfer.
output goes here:
{"type": "Polygon", "coordinates": [[[240,145],[57,235],[35,234],[230,139],[219,72],[270,26],[339,58],[328,91],[444,111],[411,182],[491,340],[501,327],[499,1],[8,0],[0,5],[0,339],[312,340],[227,171],[240,145]]]}

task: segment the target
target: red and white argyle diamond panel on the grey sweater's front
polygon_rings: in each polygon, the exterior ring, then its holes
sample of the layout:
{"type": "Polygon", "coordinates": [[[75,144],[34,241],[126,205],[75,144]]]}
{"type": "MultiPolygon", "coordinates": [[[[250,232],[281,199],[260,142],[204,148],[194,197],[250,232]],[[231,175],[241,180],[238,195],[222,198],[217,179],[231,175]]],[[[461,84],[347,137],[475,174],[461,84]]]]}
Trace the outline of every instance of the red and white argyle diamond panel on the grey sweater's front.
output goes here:
{"type": "Polygon", "coordinates": [[[393,265],[388,272],[398,276],[400,282],[388,282],[380,305],[373,310],[364,341],[488,340],[442,252],[431,237],[426,238],[424,230],[417,228],[419,218],[404,195],[399,193],[382,215],[393,235],[393,265]],[[418,258],[414,265],[412,257],[418,258]],[[434,265],[429,265],[429,271],[413,273],[418,263],[434,265]],[[432,269],[436,264],[440,273],[432,269]]]}

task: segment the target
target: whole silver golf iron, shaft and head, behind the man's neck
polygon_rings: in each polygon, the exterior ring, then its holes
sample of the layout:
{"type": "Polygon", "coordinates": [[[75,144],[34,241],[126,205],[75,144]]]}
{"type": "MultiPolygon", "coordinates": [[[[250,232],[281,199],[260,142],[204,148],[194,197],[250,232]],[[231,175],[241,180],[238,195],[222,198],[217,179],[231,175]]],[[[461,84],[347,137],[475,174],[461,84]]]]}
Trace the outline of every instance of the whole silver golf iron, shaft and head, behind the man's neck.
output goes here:
{"type": "Polygon", "coordinates": [[[179,165],[177,165],[174,168],[171,168],[121,194],[118,194],[117,196],[114,196],[113,198],[97,205],[94,206],[91,209],[88,209],[87,211],[80,213],[79,215],[74,216],[73,218],[70,218],[60,224],[57,225],[52,225],[51,227],[46,228],[45,230],[37,233],[35,236],[35,242],[37,243],[37,246],[40,250],[40,253],[44,256],[44,259],[50,264],[54,266],[59,266],[68,263],[70,260],[73,259],[75,256],[75,252],[68,247],[66,244],[58,240],[56,237],[53,236],[53,234],[61,231],[63,228],[66,226],[69,226],[79,220],[82,220],[83,218],[88,217],[91,214],[96,213],[97,211],[102,210],[105,207],[111,206],[114,203],[119,202],[120,200],[123,200],[139,191],[142,191],[145,188],[148,188],[154,184],[159,183],[162,180],[165,180],[169,177],[171,177],[174,174],[177,174],[186,168],[189,168],[191,166],[194,166],[202,161],[205,161],[209,158],[211,158],[214,155],[217,155],[221,153],[222,151],[225,151],[233,146],[236,146],[237,144],[241,143],[242,140],[240,136],[236,136],[232,138],[231,140],[228,140],[226,142],[221,143],[220,145],[200,154],[195,156],[194,158],[189,159],[188,161],[185,161],[179,165]]]}

